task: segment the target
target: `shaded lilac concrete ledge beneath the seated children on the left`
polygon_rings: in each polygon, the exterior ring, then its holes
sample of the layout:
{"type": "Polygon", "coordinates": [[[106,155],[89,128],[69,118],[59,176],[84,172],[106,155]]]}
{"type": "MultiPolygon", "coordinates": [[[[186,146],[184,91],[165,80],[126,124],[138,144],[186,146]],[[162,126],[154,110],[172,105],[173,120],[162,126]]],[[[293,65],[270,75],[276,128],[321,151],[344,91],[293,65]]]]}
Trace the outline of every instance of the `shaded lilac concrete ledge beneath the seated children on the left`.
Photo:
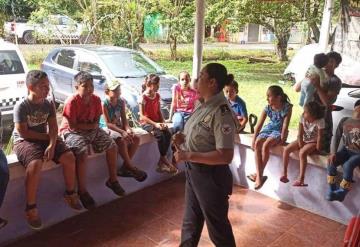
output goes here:
{"type": "MultiPolygon", "coordinates": [[[[144,182],[137,182],[133,178],[118,177],[121,186],[127,194],[141,190],[145,187],[169,179],[171,175],[155,171],[160,154],[155,138],[143,130],[136,130],[140,134],[141,145],[136,152],[133,161],[140,169],[143,169],[148,178],[144,182]]],[[[7,157],[10,164],[10,181],[5,195],[5,200],[0,208],[0,216],[6,218],[9,223],[1,229],[0,246],[5,245],[17,238],[34,233],[27,225],[25,219],[25,169],[20,165],[15,155],[7,157]]],[[[119,156],[118,165],[122,164],[119,156]]],[[[102,205],[112,200],[119,199],[105,186],[108,179],[108,170],[104,154],[90,155],[87,161],[87,184],[88,191],[93,196],[96,204],[102,205]]],[[[183,166],[179,166],[183,169],[183,166]]],[[[65,191],[62,167],[49,162],[43,166],[40,185],[38,189],[37,205],[44,228],[73,217],[79,213],[69,208],[64,202],[65,191]]],[[[146,206],[146,205],[144,205],[146,206]]]]}

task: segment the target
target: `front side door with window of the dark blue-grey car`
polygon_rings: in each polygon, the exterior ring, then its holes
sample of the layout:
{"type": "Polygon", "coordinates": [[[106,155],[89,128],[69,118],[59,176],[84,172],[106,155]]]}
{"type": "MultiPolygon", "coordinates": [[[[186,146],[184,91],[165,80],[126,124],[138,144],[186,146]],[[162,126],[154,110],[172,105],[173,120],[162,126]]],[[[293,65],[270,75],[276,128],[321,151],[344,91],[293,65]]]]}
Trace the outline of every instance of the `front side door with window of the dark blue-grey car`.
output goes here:
{"type": "Polygon", "coordinates": [[[77,51],[77,72],[85,71],[94,78],[94,93],[103,98],[106,77],[97,56],[87,51],[77,51]]]}

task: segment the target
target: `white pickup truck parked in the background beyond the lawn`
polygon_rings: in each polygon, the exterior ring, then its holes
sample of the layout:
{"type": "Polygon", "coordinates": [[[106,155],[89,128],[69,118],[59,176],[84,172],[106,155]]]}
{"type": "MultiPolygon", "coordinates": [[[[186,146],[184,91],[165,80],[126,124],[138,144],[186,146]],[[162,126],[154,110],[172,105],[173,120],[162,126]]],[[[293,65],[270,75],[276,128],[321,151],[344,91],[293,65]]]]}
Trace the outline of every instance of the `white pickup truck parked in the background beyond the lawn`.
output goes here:
{"type": "Polygon", "coordinates": [[[26,44],[35,44],[37,40],[79,41],[83,25],[64,15],[50,15],[42,23],[12,21],[5,22],[5,36],[15,36],[26,44]]]}

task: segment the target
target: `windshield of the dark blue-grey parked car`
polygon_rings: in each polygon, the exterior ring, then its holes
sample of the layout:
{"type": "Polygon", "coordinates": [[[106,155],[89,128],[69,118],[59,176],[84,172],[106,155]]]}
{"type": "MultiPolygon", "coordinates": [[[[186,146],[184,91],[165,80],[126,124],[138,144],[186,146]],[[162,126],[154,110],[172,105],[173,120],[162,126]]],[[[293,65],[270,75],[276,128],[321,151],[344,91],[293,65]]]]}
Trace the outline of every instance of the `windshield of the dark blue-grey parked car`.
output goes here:
{"type": "Polygon", "coordinates": [[[116,51],[99,53],[99,56],[115,77],[142,77],[150,73],[164,73],[159,65],[141,53],[116,51]]]}

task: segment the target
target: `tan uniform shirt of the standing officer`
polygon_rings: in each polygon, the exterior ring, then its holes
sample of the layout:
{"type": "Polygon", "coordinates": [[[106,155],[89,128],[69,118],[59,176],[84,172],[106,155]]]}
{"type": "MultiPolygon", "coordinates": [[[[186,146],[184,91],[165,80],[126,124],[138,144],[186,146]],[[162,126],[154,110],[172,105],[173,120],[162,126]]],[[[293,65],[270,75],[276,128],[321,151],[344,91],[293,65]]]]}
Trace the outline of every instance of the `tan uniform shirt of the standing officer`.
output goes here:
{"type": "Polygon", "coordinates": [[[197,105],[186,122],[184,134],[186,151],[234,148],[235,123],[223,92],[197,105]]]}

